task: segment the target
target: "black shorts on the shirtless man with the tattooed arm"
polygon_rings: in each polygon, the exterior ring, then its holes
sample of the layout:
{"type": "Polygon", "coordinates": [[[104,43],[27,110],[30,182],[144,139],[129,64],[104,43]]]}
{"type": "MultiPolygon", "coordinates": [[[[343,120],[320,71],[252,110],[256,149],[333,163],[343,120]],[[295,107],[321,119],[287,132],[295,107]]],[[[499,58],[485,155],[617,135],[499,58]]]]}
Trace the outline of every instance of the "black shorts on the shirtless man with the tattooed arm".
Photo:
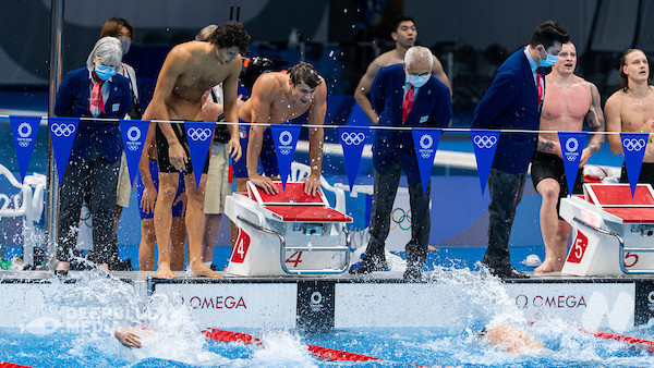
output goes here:
{"type": "MultiPolygon", "coordinates": [[[[544,154],[536,151],[532,161],[532,182],[534,183],[534,189],[545,179],[554,179],[559,183],[559,200],[556,204],[556,211],[559,210],[560,199],[568,196],[568,182],[566,179],[566,169],[564,168],[564,160],[553,154],[544,154]]],[[[537,192],[537,191],[536,191],[537,192]]],[[[572,194],[583,193],[583,170],[577,171],[577,179],[574,179],[574,186],[572,187],[572,194]]]]}

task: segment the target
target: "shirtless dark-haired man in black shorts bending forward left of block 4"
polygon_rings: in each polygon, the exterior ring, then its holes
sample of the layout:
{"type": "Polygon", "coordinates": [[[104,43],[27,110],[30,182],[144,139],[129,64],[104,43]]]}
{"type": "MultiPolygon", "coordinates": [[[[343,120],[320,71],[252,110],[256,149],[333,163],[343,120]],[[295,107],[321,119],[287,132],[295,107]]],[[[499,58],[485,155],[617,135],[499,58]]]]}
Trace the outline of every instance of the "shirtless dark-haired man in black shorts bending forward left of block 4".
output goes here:
{"type": "MultiPolygon", "coordinates": [[[[219,26],[208,42],[191,41],[175,46],[164,62],[157,79],[153,100],[143,114],[145,120],[201,121],[205,93],[222,83],[225,93],[225,116],[228,122],[237,121],[237,87],[242,59],[250,35],[242,24],[229,22],[219,26]]],[[[231,139],[228,151],[234,160],[241,157],[237,125],[229,125],[231,139]]],[[[189,270],[193,275],[220,277],[202,262],[202,235],[204,224],[204,191],[206,170],[199,188],[196,189],[192,173],[189,148],[183,123],[158,124],[157,151],[159,161],[159,192],[155,206],[155,232],[159,249],[158,278],[174,278],[170,270],[168,249],[172,220],[171,207],[178,187],[178,171],[184,171],[186,186],[186,230],[189,232],[189,270]]],[[[155,130],[148,131],[148,142],[155,130]]],[[[145,152],[145,150],[144,150],[145,152]]],[[[207,160],[208,161],[208,160],[207,160]]],[[[142,159],[144,162],[144,159],[142,159]]],[[[207,162],[208,163],[208,162],[207,162]]],[[[205,169],[207,164],[205,164],[205,169]]],[[[203,168],[195,168],[203,170],[203,168]]],[[[152,181],[146,189],[154,191],[152,181]]]]}

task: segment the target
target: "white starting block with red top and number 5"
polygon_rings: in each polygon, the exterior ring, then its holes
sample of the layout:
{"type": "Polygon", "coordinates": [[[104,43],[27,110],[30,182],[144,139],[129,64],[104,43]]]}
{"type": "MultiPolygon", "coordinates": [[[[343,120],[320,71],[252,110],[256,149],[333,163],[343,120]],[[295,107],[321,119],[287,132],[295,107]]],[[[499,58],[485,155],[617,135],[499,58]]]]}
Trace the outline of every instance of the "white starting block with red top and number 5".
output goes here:
{"type": "Polygon", "coordinates": [[[560,216],[574,241],[561,274],[654,273],[654,192],[638,184],[584,184],[583,196],[561,199],[560,216]]]}

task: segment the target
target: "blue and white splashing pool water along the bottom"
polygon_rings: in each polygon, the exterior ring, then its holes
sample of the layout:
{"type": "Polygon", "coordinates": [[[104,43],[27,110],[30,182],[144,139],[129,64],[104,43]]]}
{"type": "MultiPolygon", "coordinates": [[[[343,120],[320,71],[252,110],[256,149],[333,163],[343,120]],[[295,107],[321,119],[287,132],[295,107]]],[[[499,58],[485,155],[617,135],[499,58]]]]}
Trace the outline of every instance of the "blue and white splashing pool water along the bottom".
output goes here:
{"type": "MultiPolygon", "coordinates": [[[[261,339],[261,345],[209,341],[201,332],[206,326],[201,326],[187,307],[172,298],[156,293],[140,297],[130,284],[93,271],[82,272],[76,283],[61,283],[61,293],[48,302],[66,306],[69,316],[80,316],[80,323],[58,328],[47,321],[34,321],[22,329],[0,330],[0,360],[34,367],[654,366],[654,356],[642,348],[600,340],[557,319],[530,326],[500,282],[483,272],[467,268],[440,268],[434,272],[435,282],[456,284],[461,293],[452,299],[459,317],[447,328],[336,329],[319,333],[238,331],[261,339]],[[101,311],[89,317],[93,310],[88,307],[98,302],[104,303],[101,311]],[[88,323],[86,317],[94,322],[88,323]],[[485,326],[506,324],[533,335],[548,352],[518,355],[477,338],[485,326]],[[144,346],[129,349],[120,345],[112,336],[118,326],[146,326],[147,330],[141,330],[144,346]],[[306,344],[383,360],[324,361],[312,356],[306,344]]],[[[365,311],[351,312],[365,318],[365,311]]],[[[654,340],[654,327],[637,328],[625,334],[654,340]]]]}

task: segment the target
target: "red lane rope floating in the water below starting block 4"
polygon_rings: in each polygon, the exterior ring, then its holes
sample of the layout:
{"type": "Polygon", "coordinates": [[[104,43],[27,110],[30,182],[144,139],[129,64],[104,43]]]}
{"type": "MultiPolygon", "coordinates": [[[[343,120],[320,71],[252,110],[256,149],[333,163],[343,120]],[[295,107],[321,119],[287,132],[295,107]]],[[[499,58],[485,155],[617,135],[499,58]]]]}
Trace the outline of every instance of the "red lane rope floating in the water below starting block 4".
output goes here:
{"type": "MultiPolygon", "coordinates": [[[[203,330],[202,332],[209,340],[220,341],[220,342],[225,342],[225,343],[239,342],[239,343],[242,343],[243,345],[255,345],[255,346],[259,346],[263,344],[259,339],[256,339],[253,335],[247,334],[247,333],[226,331],[226,330],[211,329],[211,328],[203,330]]],[[[327,361],[384,360],[382,358],[376,358],[373,356],[367,356],[367,355],[362,355],[362,354],[356,354],[356,353],[349,353],[349,352],[338,351],[338,349],[329,348],[329,347],[323,347],[323,346],[316,346],[316,345],[310,345],[310,344],[307,344],[306,346],[308,347],[308,351],[314,356],[316,356],[319,359],[327,360],[327,361]]],[[[425,367],[425,366],[421,366],[421,365],[416,365],[416,364],[408,364],[408,365],[411,365],[413,367],[425,367]]]]}

